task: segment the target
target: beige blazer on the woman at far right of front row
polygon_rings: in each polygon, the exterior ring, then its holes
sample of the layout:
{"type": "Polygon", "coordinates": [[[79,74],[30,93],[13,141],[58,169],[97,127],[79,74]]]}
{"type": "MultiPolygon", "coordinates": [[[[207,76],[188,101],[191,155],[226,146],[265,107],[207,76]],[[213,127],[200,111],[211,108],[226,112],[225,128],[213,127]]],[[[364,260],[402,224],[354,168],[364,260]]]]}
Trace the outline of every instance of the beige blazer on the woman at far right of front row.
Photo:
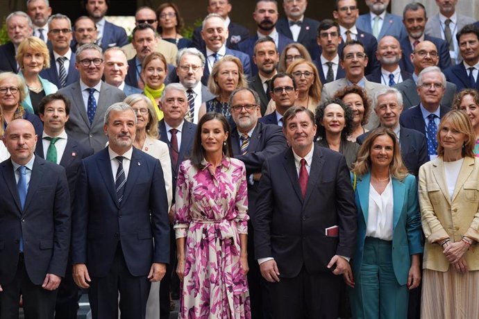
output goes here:
{"type": "Polygon", "coordinates": [[[468,236],[474,242],[464,254],[469,270],[479,270],[479,158],[465,157],[449,196],[442,157],[423,164],[419,169],[419,205],[426,235],[423,268],[447,271],[449,262],[439,241],[461,240],[468,236]]]}

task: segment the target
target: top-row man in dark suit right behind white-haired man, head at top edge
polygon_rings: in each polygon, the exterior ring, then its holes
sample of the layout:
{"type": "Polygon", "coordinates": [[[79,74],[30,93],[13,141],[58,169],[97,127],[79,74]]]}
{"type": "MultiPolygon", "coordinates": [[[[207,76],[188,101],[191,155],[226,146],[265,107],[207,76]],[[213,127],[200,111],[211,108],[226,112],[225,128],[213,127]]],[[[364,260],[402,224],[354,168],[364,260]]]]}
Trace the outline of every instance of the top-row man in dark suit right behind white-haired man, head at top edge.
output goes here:
{"type": "MultiPolygon", "coordinates": [[[[228,38],[226,40],[226,47],[228,49],[236,49],[236,45],[243,40],[246,40],[249,37],[248,28],[237,24],[230,20],[228,14],[233,9],[229,0],[217,1],[217,0],[208,0],[208,13],[217,13],[226,21],[226,27],[228,28],[228,38]]],[[[205,51],[206,44],[203,37],[201,37],[201,26],[195,28],[193,31],[192,42],[193,46],[199,51],[205,51]]]]}

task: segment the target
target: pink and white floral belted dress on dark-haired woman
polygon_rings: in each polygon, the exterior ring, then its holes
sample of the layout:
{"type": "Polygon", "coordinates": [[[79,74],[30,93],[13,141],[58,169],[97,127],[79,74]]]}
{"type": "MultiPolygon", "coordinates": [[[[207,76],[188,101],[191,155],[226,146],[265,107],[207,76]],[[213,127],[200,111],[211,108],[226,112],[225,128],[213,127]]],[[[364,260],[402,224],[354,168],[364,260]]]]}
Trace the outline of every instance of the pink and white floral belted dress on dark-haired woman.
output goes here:
{"type": "Polygon", "coordinates": [[[176,238],[186,237],[185,278],[178,318],[251,318],[240,235],[248,233],[246,169],[223,157],[215,172],[204,162],[180,166],[176,187],[176,238]]]}

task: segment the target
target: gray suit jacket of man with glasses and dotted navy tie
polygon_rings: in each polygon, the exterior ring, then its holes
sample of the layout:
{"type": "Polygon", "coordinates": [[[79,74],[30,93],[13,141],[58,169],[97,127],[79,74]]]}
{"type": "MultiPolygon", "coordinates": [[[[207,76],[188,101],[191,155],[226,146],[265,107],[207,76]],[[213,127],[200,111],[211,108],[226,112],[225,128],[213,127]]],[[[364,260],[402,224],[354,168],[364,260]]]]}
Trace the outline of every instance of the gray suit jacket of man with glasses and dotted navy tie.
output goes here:
{"type": "Polygon", "coordinates": [[[95,117],[91,125],[88,121],[87,108],[83,103],[79,81],[58,90],[58,93],[67,96],[72,103],[70,117],[65,125],[67,133],[83,146],[93,148],[95,153],[105,148],[108,138],[103,132],[103,116],[110,105],[121,102],[126,98],[124,92],[117,87],[102,82],[100,98],[96,102],[95,117]]]}

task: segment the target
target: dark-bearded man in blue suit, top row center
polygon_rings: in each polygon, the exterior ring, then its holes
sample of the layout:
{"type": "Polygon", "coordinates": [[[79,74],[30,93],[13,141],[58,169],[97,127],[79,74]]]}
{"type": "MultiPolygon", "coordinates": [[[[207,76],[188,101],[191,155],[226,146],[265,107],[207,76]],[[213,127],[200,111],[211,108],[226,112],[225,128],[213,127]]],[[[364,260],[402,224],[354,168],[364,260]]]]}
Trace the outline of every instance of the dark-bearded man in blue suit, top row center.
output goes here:
{"type": "MultiPolygon", "coordinates": [[[[238,50],[249,55],[250,60],[253,60],[255,43],[260,37],[271,37],[278,52],[283,52],[285,46],[293,42],[289,37],[276,30],[276,22],[278,22],[276,1],[258,1],[253,12],[253,19],[257,26],[256,34],[237,45],[238,50]]],[[[253,64],[251,65],[251,75],[255,76],[256,74],[258,74],[258,67],[253,64]]]]}

